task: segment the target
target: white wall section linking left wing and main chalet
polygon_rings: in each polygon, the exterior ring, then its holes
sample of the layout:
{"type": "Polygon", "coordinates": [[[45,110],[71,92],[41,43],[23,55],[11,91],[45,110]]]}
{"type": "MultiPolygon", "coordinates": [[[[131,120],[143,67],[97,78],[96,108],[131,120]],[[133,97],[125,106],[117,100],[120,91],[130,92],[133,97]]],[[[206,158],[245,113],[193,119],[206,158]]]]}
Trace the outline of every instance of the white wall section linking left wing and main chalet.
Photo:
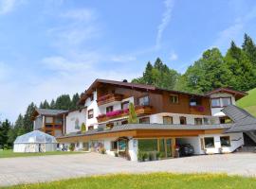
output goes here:
{"type": "Polygon", "coordinates": [[[87,110],[82,109],[81,111],[69,112],[65,117],[66,133],[77,132],[81,130],[82,123],[86,126],[86,115],[87,110]],[[76,128],[76,121],[79,122],[79,127],[76,128]]]}

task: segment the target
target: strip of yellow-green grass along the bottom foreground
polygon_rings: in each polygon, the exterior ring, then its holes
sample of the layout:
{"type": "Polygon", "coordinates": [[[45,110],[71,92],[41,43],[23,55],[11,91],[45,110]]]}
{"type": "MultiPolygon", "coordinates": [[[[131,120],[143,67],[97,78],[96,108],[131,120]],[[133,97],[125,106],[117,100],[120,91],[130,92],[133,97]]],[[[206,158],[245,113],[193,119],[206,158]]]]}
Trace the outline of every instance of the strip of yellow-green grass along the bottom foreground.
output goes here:
{"type": "Polygon", "coordinates": [[[130,189],[130,188],[256,188],[256,179],[213,174],[170,174],[154,173],[140,175],[107,175],[46,183],[7,187],[26,189],[130,189]]]}

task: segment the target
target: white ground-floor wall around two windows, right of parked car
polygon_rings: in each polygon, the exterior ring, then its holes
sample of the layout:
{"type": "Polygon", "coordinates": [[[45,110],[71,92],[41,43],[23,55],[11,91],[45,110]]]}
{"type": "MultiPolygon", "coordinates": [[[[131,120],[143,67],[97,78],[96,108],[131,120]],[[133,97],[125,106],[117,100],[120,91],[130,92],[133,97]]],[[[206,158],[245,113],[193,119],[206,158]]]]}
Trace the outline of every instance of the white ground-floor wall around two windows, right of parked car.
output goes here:
{"type": "MultiPolygon", "coordinates": [[[[236,148],[239,146],[244,145],[244,137],[243,137],[243,132],[238,132],[238,133],[229,133],[229,134],[204,134],[204,135],[199,135],[199,138],[204,138],[204,137],[214,137],[214,147],[206,148],[207,153],[219,153],[220,150],[219,148],[221,147],[221,142],[220,142],[220,136],[229,136],[230,137],[230,146],[229,147],[222,147],[222,151],[224,153],[229,153],[234,151],[236,148]]],[[[200,152],[201,154],[204,154],[204,151],[201,149],[201,144],[200,146],[200,152]]]]}

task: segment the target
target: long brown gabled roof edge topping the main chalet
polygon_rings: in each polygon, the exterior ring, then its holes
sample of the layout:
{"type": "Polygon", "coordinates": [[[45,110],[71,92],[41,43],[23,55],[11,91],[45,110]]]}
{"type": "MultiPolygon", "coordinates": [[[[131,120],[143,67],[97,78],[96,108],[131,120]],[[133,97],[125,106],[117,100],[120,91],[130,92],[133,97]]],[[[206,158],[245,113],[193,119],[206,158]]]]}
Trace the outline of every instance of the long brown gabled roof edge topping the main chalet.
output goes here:
{"type": "Polygon", "coordinates": [[[116,86],[119,86],[119,87],[131,88],[131,89],[137,89],[137,90],[143,90],[143,91],[171,92],[171,93],[175,93],[175,94],[189,94],[189,95],[194,95],[194,96],[206,97],[206,95],[204,95],[204,94],[192,94],[192,93],[187,93],[187,92],[179,92],[179,91],[174,91],[174,90],[161,89],[161,88],[155,87],[153,85],[146,85],[146,84],[138,84],[138,83],[131,83],[131,82],[124,82],[124,81],[116,81],[116,80],[108,80],[108,79],[97,78],[90,85],[90,87],[82,94],[81,99],[79,101],[79,104],[84,103],[86,98],[88,96],[90,96],[95,91],[95,89],[101,84],[111,84],[111,85],[116,85],[116,86]]]}

